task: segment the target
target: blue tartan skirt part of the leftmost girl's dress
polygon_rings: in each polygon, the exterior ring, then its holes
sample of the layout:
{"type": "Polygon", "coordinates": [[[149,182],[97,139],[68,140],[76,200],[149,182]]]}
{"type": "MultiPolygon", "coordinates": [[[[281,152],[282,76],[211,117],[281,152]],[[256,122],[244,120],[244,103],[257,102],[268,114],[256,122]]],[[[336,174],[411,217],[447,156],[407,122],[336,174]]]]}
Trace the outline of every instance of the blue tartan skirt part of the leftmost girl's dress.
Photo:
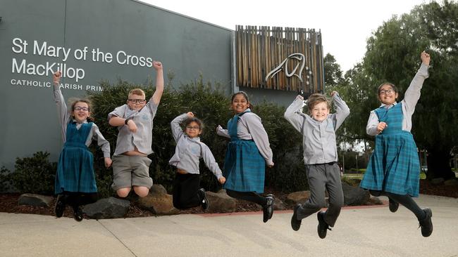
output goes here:
{"type": "Polygon", "coordinates": [[[67,142],[57,164],[54,192],[97,192],[94,157],[84,143],[67,142]]]}

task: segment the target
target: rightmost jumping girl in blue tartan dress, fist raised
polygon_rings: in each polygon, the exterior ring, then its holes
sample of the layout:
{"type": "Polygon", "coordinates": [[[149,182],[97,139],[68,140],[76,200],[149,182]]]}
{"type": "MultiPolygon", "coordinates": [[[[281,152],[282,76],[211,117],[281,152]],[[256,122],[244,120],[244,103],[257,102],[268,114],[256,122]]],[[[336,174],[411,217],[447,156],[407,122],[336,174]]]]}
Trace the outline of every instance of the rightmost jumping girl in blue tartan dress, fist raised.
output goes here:
{"type": "Polygon", "coordinates": [[[378,87],[382,105],[371,112],[366,126],[367,133],[376,137],[376,147],[360,184],[371,195],[387,196],[390,211],[397,211],[399,204],[412,211],[419,220],[423,237],[433,232],[433,213],[429,208],[421,209],[411,198],[419,196],[420,162],[410,130],[421,86],[428,78],[430,60],[428,53],[423,51],[421,67],[400,103],[396,102],[395,85],[383,83],[378,87]]]}

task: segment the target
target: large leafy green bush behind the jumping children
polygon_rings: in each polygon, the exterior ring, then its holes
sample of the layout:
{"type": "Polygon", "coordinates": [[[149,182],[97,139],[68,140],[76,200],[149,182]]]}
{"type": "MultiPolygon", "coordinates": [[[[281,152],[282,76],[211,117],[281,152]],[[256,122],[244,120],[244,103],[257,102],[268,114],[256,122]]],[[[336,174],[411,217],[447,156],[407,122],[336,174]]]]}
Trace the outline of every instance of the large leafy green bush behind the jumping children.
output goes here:
{"type": "MultiPolygon", "coordinates": [[[[116,147],[118,130],[108,124],[107,114],[115,107],[123,105],[128,92],[132,88],[142,88],[151,98],[154,86],[149,82],[147,86],[129,84],[118,80],[116,84],[102,82],[106,88],[103,92],[89,93],[92,100],[92,117],[97,126],[111,145],[111,153],[116,147]]],[[[304,190],[307,188],[305,167],[302,162],[302,136],[283,118],[284,107],[273,103],[260,103],[253,110],[261,117],[266,129],[275,166],[266,169],[266,187],[276,190],[304,190]]],[[[170,192],[175,168],[168,164],[168,160],[175,152],[175,140],[171,133],[170,122],[178,115],[185,112],[193,112],[204,123],[204,131],[201,140],[209,146],[216,162],[223,168],[225,150],[228,139],[216,135],[216,126],[226,127],[228,119],[233,117],[230,110],[230,97],[225,95],[220,85],[205,83],[202,76],[189,84],[182,85],[179,91],[166,87],[159,108],[154,117],[153,144],[154,154],[150,154],[151,166],[149,175],[154,183],[159,183],[170,192]]],[[[102,196],[112,195],[111,169],[104,169],[103,155],[101,151],[94,150],[96,160],[97,185],[102,196]]],[[[201,162],[202,186],[216,191],[221,188],[213,173],[201,162]]]]}

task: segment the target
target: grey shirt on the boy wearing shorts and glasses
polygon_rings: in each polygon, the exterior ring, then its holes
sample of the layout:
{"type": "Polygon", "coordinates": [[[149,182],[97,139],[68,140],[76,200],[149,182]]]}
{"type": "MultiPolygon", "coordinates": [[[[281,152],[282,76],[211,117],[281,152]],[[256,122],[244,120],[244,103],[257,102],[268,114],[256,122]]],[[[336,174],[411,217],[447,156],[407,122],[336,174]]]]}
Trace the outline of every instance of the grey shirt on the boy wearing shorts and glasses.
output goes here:
{"type": "Polygon", "coordinates": [[[131,110],[129,105],[121,105],[116,107],[113,112],[108,114],[108,119],[111,117],[120,117],[131,119],[137,125],[137,132],[133,133],[129,130],[127,125],[118,126],[118,138],[116,139],[116,149],[113,154],[123,154],[124,152],[133,151],[135,147],[137,150],[144,154],[151,154],[151,144],[153,142],[153,119],[156,115],[158,105],[153,103],[153,100],[149,100],[147,105],[144,105],[142,110],[136,111],[131,110]]]}

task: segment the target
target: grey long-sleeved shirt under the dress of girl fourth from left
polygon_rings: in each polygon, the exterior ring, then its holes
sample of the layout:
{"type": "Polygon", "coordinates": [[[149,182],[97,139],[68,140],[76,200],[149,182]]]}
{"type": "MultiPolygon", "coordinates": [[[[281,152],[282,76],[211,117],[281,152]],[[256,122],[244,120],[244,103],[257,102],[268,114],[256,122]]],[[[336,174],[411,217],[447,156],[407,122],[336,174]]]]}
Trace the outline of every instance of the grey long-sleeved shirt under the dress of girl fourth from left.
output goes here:
{"type": "MultiPolygon", "coordinates": [[[[230,138],[227,129],[218,126],[216,133],[219,136],[230,138]]],[[[267,165],[273,164],[273,153],[268,143],[267,132],[262,126],[261,118],[253,112],[243,114],[237,121],[237,137],[242,140],[253,140],[258,147],[259,153],[266,160],[267,165]]]]}

